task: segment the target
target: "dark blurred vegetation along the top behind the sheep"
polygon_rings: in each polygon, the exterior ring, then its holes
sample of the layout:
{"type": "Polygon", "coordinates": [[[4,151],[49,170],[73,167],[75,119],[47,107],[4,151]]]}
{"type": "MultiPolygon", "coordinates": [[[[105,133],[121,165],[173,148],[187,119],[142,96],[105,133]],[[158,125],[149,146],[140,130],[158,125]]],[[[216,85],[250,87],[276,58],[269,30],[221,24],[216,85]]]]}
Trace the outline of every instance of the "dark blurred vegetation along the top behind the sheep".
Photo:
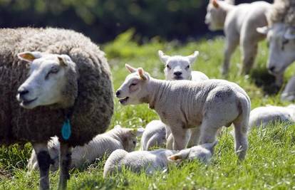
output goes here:
{"type": "MultiPolygon", "coordinates": [[[[236,4],[253,0],[236,0],[236,4]]],[[[268,0],[270,1],[270,0],[268,0]]],[[[0,27],[71,28],[97,43],[129,28],[135,40],[155,36],[187,41],[209,33],[204,23],[209,0],[0,0],[0,27]]]]}

